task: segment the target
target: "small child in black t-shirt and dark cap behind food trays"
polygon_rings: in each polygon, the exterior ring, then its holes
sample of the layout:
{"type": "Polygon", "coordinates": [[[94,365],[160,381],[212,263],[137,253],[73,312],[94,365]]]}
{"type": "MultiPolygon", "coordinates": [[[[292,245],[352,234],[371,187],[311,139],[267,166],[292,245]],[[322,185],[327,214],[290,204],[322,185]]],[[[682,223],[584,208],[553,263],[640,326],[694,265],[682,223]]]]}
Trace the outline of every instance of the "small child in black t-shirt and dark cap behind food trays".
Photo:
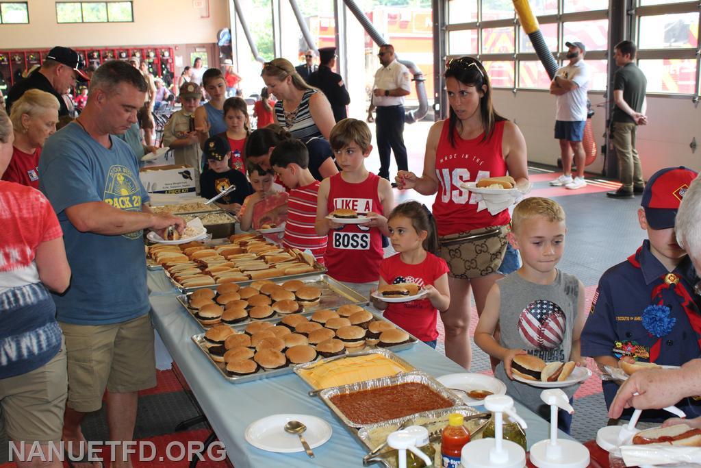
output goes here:
{"type": "Polygon", "coordinates": [[[209,167],[200,177],[202,196],[205,199],[214,198],[233,185],[236,188],[215,203],[224,210],[238,214],[241,204],[247,196],[253,193],[253,189],[243,173],[229,167],[229,157],[231,156],[229,142],[218,136],[207,138],[203,152],[209,167]]]}

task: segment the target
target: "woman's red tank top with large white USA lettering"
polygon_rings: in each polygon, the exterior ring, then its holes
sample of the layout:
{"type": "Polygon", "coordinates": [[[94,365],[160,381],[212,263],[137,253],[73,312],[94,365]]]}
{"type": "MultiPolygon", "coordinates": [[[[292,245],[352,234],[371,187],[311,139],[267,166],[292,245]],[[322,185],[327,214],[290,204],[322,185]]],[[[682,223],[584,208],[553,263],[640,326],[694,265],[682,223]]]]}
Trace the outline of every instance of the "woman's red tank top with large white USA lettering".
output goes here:
{"type": "Polygon", "coordinates": [[[489,210],[478,212],[475,194],[461,187],[465,182],[506,175],[506,161],[501,150],[505,123],[496,122],[486,142],[482,142],[483,135],[463,140],[456,131],[453,147],[448,140],[449,121],[444,121],[436,148],[435,174],[439,188],[433,203],[439,236],[509,223],[508,210],[494,216],[489,210]]]}

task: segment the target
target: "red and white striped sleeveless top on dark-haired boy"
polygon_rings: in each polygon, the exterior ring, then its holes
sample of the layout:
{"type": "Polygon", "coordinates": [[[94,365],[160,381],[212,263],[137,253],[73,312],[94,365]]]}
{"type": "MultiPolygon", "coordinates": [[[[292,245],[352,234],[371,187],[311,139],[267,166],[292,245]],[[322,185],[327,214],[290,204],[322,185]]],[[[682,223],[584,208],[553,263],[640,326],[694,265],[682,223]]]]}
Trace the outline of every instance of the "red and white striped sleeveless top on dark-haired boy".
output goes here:
{"type": "Polygon", "coordinates": [[[327,236],[319,236],[314,228],[320,185],[321,182],[315,180],[310,185],[290,190],[283,246],[302,251],[309,249],[316,260],[323,264],[327,236]]]}

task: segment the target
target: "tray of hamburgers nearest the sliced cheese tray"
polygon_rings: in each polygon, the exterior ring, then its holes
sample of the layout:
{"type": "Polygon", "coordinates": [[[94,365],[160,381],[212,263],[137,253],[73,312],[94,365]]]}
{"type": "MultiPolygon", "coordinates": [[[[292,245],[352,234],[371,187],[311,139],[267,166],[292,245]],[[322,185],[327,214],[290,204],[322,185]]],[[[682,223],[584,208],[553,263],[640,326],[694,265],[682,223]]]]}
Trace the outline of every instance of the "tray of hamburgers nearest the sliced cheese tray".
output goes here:
{"type": "MultiPolygon", "coordinates": [[[[345,305],[339,308],[343,313],[356,309],[365,310],[357,305],[345,305]],[[344,308],[346,310],[342,310],[344,308]]],[[[319,321],[325,319],[328,321],[324,315],[327,314],[318,314],[318,316],[314,316],[314,313],[290,314],[281,319],[251,321],[231,326],[219,323],[205,333],[194,335],[192,340],[226,380],[237,383],[292,373],[292,367],[297,364],[364,352],[375,349],[379,345],[379,339],[368,338],[369,331],[361,326],[348,326],[345,325],[345,321],[322,325],[319,321]],[[342,326],[334,328],[339,325],[342,326]],[[241,349],[242,347],[250,351],[241,349]],[[295,351],[290,351],[292,348],[295,351]],[[259,363],[255,360],[255,353],[260,349],[271,349],[273,352],[264,353],[264,361],[259,363]],[[271,361],[268,362],[267,359],[271,361]],[[253,363],[239,362],[250,360],[253,360],[253,363]]],[[[372,321],[366,326],[372,326],[374,321],[385,322],[384,319],[373,316],[372,321]]],[[[388,326],[383,328],[391,328],[403,335],[408,335],[392,323],[388,323],[388,326]]],[[[410,344],[408,342],[387,343],[387,347],[393,351],[399,351],[414,345],[416,338],[411,338],[414,341],[410,344]]],[[[261,361],[260,356],[259,361],[261,361]]]]}

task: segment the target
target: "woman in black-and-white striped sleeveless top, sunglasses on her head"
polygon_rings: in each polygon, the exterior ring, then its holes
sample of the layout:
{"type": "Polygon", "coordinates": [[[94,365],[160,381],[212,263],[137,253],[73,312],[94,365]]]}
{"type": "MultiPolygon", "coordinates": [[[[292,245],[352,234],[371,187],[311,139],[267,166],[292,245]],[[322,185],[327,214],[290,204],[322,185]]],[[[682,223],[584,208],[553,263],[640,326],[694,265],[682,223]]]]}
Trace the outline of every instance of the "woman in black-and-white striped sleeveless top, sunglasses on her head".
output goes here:
{"type": "Polygon", "coordinates": [[[292,63],[276,58],[261,72],[268,92],[275,95],[275,120],[294,138],[305,144],[312,138],[329,139],[336,124],[334,112],[324,93],[309,86],[292,63]]]}

